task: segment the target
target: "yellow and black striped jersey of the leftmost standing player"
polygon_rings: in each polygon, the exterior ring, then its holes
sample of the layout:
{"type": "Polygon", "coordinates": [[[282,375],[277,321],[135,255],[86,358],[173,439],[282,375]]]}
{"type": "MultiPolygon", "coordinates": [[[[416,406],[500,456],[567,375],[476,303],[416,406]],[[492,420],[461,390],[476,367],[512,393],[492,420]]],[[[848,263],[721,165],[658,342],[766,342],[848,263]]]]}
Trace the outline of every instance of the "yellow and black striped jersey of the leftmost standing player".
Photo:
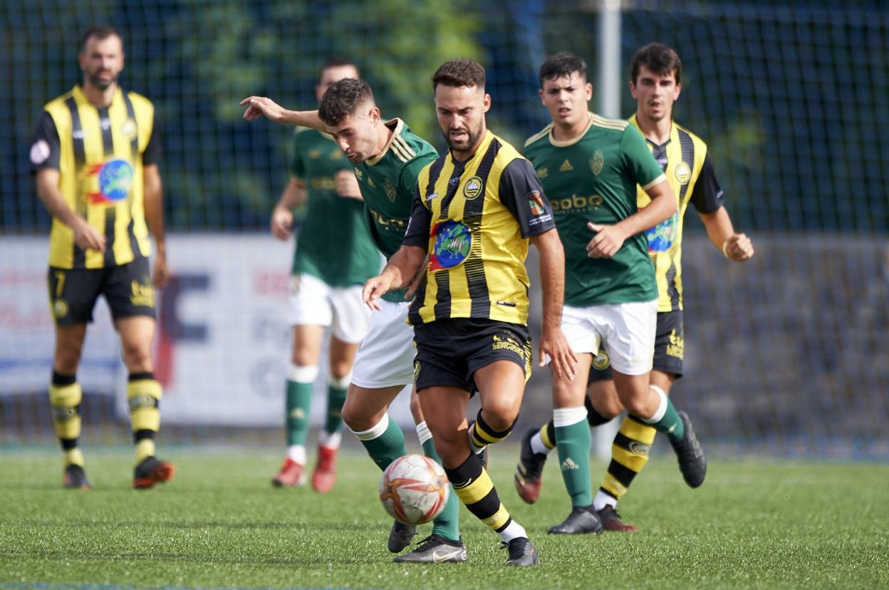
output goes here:
{"type": "Polygon", "coordinates": [[[50,266],[99,269],[150,255],[142,166],[156,164],[154,107],[137,93],[116,89],[98,108],[76,85],[48,102],[31,145],[31,166],[59,170],[68,206],[104,234],[104,253],[77,247],[74,231],[52,220],[50,266]]]}

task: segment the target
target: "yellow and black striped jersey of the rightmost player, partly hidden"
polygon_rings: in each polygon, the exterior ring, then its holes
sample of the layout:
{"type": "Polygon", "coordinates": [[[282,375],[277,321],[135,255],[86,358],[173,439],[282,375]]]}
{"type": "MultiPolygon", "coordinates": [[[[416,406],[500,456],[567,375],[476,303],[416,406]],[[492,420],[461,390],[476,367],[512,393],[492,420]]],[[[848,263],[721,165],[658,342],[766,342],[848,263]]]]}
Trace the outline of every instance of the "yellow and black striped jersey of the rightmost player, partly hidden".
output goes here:
{"type": "MultiPolygon", "coordinates": [[[[639,124],[636,115],[630,122],[639,124]]],[[[641,132],[642,130],[639,129],[641,132]]],[[[648,255],[654,265],[658,283],[658,311],[682,309],[682,230],[685,209],[689,203],[699,213],[713,213],[723,206],[713,160],[707,144],[700,137],[678,125],[670,127],[669,140],[663,145],[645,140],[654,159],[661,165],[670,188],[676,194],[677,212],[667,221],[645,231],[648,255]]],[[[637,188],[637,205],[641,209],[651,203],[645,190],[637,188]]]]}

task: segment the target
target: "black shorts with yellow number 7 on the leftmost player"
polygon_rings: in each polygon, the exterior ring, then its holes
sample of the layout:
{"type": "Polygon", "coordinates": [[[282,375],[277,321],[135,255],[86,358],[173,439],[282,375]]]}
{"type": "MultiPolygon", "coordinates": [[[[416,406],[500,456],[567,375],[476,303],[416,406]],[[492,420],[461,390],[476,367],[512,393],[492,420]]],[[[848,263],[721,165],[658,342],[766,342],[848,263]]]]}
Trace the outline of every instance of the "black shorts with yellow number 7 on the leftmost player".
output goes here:
{"type": "Polygon", "coordinates": [[[92,308],[105,295],[111,317],[155,317],[155,291],[148,271],[148,258],[103,269],[59,269],[50,267],[50,309],[56,326],[92,322],[92,308]]]}

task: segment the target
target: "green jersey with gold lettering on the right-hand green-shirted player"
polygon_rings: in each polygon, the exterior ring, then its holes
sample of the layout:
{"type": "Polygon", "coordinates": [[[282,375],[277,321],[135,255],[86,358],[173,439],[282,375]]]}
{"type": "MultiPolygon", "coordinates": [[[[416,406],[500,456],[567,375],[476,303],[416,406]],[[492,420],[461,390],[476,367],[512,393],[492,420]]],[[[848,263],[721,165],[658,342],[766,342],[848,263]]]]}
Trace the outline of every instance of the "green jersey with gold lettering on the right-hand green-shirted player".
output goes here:
{"type": "Polygon", "coordinates": [[[658,297],[645,233],[628,238],[611,258],[589,258],[595,232],[587,222],[613,225],[637,212],[636,186],[664,178],[642,134],[628,121],[589,114],[580,138],[557,141],[552,126],[525,141],[549,198],[565,247],[565,304],[652,301],[658,297]]]}

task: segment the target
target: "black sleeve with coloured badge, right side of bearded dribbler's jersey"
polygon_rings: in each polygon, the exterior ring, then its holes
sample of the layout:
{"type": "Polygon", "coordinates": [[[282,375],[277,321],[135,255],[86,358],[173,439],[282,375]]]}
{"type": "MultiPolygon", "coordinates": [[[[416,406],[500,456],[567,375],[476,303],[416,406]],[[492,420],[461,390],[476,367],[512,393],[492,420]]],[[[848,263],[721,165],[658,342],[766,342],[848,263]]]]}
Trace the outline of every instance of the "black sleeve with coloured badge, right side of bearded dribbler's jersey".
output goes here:
{"type": "Polygon", "coordinates": [[[541,180],[525,158],[516,158],[503,168],[500,198],[522,228],[522,238],[533,238],[556,227],[541,180]]]}

